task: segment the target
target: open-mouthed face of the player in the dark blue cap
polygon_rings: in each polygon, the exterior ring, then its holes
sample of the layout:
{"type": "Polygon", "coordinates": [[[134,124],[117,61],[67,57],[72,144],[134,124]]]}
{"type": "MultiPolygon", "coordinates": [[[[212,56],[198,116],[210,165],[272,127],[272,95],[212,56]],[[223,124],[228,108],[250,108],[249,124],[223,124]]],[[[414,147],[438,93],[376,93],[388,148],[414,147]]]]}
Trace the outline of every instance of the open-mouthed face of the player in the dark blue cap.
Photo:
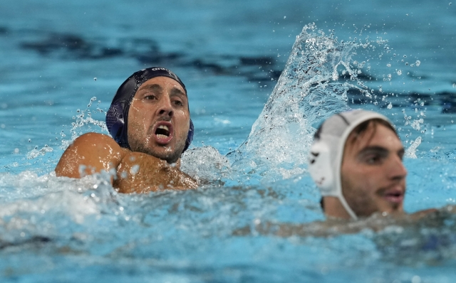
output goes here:
{"type": "Polygon", "coordinates": [[[128,121],[128,143],[133,151],[175,163],[190,127],[185,90],[171,78],[147,80],[133,98],[128,121]]]}

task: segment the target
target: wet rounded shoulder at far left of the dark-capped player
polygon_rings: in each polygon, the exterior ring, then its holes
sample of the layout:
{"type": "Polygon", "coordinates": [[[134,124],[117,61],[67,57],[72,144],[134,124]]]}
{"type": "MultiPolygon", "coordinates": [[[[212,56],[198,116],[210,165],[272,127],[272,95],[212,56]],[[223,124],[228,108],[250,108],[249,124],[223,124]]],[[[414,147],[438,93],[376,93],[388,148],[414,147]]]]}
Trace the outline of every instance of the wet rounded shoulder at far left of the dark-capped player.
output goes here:
{"type": "Polygon", "coordinates": [[[128,152],[105,134],[87,133],[68,146],[56,166],[57,176],[81,178],[115,169],[128,152]]]}

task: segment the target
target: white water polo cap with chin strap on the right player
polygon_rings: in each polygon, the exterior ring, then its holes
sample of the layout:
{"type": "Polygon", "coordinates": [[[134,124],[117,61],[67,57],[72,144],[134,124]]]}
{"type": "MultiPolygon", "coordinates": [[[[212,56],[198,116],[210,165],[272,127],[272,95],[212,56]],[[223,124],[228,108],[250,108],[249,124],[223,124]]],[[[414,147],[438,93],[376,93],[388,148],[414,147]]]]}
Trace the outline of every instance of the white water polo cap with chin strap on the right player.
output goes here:
{"type": "Polygon", "coordinates": [[[341,166],[346,139],[359,124],[370,119],[382,119],[393,124],[382,114],[366,110],[351,110],[326,119],[314,136],[309,151],[309,173],[321,196],[335,196],[354,220],[358,219],[342,194],[341,166]]]}

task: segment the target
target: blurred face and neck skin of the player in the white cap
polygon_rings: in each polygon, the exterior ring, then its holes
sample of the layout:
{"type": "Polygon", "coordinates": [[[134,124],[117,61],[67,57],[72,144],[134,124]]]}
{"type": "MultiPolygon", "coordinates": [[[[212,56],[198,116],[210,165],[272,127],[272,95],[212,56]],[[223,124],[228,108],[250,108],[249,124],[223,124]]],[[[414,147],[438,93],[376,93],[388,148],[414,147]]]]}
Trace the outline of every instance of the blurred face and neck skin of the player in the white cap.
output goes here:
{"type": "MultiPolygon", "coordinates": [[[[369,124],[359,136],[347,139],[341,166],[343,196],[358,217],[373,213],[403,213],[404,149],[395,133],[382,124],[369,124]]],[[[324,198],[325,213],[350,218],[337,198],[324,198]]]]}

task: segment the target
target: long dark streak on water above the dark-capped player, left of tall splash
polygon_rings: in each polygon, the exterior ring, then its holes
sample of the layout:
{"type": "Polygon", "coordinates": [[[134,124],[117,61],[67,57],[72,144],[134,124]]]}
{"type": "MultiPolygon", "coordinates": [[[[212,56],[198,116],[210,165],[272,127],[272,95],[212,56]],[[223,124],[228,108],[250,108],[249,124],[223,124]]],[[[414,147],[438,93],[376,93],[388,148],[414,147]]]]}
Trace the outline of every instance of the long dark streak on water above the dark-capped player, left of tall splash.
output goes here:
{"type": "Polygon", "coordinates": [[[242,76],[259,84],[276,81],[281,74],[272,55],[212,55],[192,58],[188,53],[162,51],[157,41],[150,38],[121,38],[117,43],[109,44],[107,38],[90,40],[71,33],[39,33],[41,35],[36,41],[21,42],[19,46],[24,50],[36,51],[44,57],[56,56],[63,60],[131,58],[140,65],[194,68],[201,72],[210,72],[212,75],[242,76]]]}

